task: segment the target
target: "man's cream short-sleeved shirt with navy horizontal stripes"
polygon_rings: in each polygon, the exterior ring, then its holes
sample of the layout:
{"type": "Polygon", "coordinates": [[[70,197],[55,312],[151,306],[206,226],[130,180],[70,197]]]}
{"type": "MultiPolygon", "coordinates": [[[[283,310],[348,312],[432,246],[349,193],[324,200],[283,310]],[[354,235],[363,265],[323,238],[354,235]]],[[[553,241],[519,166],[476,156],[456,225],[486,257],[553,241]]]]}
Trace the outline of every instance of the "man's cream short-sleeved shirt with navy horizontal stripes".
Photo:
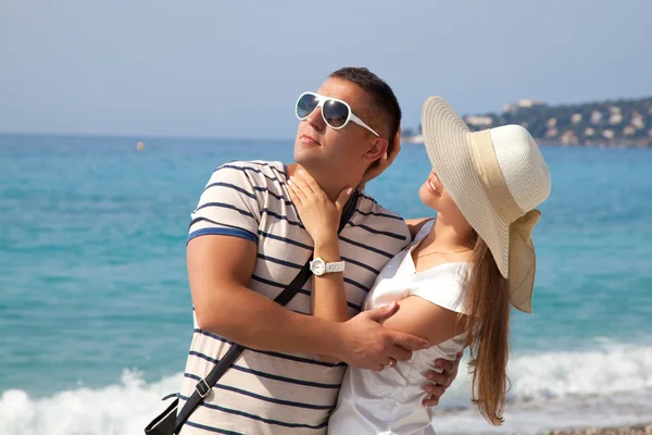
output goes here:
{"type": "MultiPolygon", "coordinates": [[[[192,212],[188,239],[230,235],[258,245],[249,288],[271,299],[294,278],[309,259],[312,239],[300,223],[280,162],[231,162],[215,170],[192,212]]],[[[340,234],[347,262],[344,285],[350,313],[356,314],[376,275],[410,243],[405,222],[361,196],[340,234]]],[[[287,304],[311,313],[310,279],[287,304]]],[[[230,348],[217,335],[199,330],[190,346],[181,403],[230,348]]],[[[206,400],[192,413],[181,434],[322,434],[337,402],[346,364],[314,355],[247,349],[206,400]]]]}

